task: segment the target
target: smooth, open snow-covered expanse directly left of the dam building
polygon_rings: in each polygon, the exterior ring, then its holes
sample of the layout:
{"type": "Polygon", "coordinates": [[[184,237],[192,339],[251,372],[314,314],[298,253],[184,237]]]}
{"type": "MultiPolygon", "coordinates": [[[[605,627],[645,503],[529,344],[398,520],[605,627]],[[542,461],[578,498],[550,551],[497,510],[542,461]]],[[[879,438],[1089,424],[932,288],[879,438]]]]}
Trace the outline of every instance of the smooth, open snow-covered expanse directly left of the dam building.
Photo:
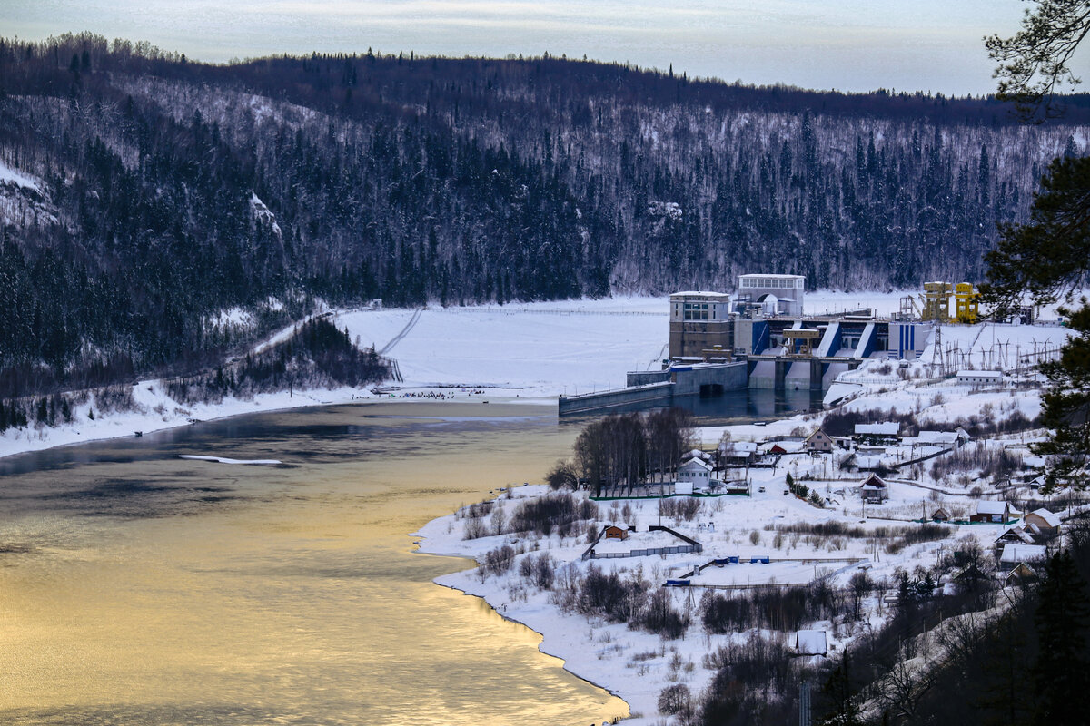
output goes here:
{"type": "Polygon", "coordinates": [[[438,308],[413,318],[363,310],[337,324],[396,358],[407,386],[498,387],[511,397],[616,389],[627,371],[658,368],[668,353],[665,298],[438,308]]]}

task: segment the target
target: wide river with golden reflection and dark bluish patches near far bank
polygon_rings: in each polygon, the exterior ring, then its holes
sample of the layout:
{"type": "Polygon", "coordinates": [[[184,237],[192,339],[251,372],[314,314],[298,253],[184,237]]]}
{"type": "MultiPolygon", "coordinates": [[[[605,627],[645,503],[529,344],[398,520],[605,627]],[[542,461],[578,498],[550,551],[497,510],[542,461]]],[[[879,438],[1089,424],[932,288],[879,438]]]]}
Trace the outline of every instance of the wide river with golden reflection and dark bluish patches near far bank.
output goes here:
{"type": "Polygon", "coordinates": [[[541,654],[535,633],[431,581],[472,563],[412,553],[408,533],[540,478],[574,435],[548,417],[473,420],[485,413],[538,416],[427,404],[286,413],[125,443],[114,458],[133,460],[5,476],[0,722],[585,726],[625,715],[541,654]]]}

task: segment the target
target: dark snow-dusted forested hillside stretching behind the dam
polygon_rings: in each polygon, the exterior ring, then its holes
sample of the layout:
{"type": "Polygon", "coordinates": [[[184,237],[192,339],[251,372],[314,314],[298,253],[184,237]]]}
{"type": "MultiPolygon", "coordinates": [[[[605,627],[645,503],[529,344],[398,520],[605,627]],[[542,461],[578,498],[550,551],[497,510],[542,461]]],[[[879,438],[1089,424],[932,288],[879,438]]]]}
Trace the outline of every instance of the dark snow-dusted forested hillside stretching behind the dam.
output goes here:
{"type": "Polygon", "coordinates": [[[1090,102],[847,96],[555,58],[211,66],[0,40],[0,395],[185,372],[316,299],[981,276],[1090,102]]]}

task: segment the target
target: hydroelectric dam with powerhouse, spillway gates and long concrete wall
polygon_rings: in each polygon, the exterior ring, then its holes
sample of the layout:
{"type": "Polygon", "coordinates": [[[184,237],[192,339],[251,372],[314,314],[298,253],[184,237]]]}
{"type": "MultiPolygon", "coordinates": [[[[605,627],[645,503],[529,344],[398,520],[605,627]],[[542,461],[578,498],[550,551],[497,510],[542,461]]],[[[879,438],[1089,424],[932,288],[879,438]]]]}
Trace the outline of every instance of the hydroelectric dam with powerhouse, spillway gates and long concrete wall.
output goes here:
{"type": "Polygon", "coordinates": [[[803,316],[802,275],[743,274],[738,283],[734,294],[670,295],[669,358],[662,369],[630,371],[625,389],[561,396],[560,415],[671,406],[687,396],[744,389],[809,391],[811,396],[828,390],[826,398],[837,399],[847,394],[834,395],[832,386],[850,385],[837,383],[841,372],[869,358],[916,359],[934,330],[930,321],[879,318],[870,308],[803,316]]]}

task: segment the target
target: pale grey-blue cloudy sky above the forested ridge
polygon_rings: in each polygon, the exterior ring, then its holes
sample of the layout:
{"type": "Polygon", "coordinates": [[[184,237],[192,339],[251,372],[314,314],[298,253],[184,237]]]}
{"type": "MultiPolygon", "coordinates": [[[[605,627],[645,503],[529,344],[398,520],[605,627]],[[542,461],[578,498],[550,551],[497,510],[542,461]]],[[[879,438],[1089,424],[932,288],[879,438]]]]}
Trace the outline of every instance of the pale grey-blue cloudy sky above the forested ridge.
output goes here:
{"type": "MultiPolygon", "coordinates": [[[[748,84],[994,90],[982,38],[1020,0],[0,0],[0,34],[90,30],[190,59],[414,51],[630,62],[748,84]]],[[[1090,53],[1076,73],[1090,75],[1090,53]]]]}

